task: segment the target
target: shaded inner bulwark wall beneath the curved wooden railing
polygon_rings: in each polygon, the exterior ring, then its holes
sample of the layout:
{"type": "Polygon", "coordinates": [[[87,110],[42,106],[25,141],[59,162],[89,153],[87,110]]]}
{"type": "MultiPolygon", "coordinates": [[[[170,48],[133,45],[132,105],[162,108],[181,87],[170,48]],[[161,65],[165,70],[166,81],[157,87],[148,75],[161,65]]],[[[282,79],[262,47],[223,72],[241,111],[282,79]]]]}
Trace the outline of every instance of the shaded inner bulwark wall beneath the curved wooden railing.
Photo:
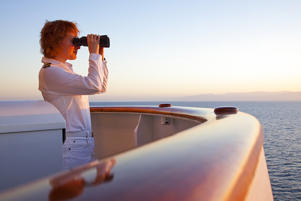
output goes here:
{"type": "Polygon", "coordinates": [[[94,131],[95,159],[122,153],[137,147],[137,145],[151,143],[199,125],[198,122],[188,119],[170,119],[170,125],[162,125],[159,115],[92,112],[91,123],[94,131]]]}

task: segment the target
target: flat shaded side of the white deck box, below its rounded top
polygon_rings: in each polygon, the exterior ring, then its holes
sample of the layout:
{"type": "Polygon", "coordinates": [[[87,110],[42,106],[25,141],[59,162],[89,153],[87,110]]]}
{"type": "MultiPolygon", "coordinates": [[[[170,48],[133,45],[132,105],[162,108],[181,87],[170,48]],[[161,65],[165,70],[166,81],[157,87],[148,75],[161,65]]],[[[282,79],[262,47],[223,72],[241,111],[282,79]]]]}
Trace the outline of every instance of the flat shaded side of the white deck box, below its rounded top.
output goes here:
{"type": "Polygon", "coordinates": [[[62,129],[0,134],[0,191],[63,170],[62,129]]]}

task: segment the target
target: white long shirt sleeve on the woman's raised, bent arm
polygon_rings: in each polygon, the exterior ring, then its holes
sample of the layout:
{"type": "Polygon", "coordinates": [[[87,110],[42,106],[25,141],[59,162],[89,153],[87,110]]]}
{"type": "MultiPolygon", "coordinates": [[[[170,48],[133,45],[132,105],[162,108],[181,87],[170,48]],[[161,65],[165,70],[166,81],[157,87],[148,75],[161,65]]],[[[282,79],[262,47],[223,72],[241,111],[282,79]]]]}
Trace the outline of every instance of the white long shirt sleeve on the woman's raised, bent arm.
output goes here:
{"type": "Polygon", "coordinates": [[[87,76],[50,66],[45,68],[42,77],[45,88],[50,94],[73,96],[104,93],[107,90],[108,80],[107,61],[102,61],[99,54],[90,54],[87,76]]]}

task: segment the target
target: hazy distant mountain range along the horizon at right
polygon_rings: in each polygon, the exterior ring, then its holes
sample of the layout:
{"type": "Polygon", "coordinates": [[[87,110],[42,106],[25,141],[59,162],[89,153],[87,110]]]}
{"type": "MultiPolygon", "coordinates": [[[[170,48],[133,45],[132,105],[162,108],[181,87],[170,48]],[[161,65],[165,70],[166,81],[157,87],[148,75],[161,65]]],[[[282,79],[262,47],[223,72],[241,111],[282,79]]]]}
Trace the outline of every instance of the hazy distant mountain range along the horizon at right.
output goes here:
{"type": "Polygon", "coordinates": [[[178,98],[179,101],[290,101],[301,100],[301,91],[279,91],[279,92],[267,92],[257,91],[248,93],[226,93],[226,94],[199,94],[194,96],[186,96],[178,98]]]}

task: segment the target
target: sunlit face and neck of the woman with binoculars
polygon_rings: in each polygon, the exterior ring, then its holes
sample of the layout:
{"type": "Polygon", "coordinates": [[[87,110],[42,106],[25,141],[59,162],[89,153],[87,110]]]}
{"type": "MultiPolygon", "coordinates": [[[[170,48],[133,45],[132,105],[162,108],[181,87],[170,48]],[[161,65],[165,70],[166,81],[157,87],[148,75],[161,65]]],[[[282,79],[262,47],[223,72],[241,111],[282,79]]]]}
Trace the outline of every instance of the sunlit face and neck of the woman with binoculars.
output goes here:
{"type": "Polygon", "coordinates": [[[62,51],[54,55],[54,59],[65,63],[67,60],[75,60],[77,51],[80,49],[79,45],[73,44],[73,39],[76,38],[75,34],[68,34],[62,41],[62,51]]]}

